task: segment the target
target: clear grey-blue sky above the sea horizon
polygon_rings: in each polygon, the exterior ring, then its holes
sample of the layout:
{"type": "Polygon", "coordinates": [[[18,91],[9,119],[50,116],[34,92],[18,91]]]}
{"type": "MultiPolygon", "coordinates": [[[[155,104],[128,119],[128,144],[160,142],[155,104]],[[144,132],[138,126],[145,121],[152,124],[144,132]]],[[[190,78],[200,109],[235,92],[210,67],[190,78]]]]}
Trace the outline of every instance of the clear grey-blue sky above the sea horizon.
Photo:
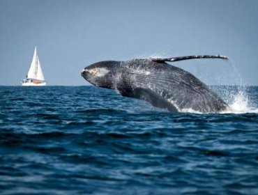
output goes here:
{"type": "Polygon", "coordinates": [[[0,0],[0,85],[26,77],[34,47],[48,85],[84,86],[98,61],[223,54],[172,63],[206,84],[258,85],[258,1],[0,0]]]}

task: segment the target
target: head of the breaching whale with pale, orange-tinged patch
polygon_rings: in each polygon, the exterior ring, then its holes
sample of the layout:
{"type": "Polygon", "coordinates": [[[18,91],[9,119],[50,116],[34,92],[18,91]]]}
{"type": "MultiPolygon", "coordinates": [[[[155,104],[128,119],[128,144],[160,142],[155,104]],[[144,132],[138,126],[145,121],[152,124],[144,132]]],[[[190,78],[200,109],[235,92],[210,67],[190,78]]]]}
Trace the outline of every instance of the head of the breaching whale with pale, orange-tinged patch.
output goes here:
{"type": "Polygon", "coordinates": [[[120,63],[120,61],[100,61],[84,68],[81,74],[86,81],[95,86],[115,88],[114,81],[120,63]]]}

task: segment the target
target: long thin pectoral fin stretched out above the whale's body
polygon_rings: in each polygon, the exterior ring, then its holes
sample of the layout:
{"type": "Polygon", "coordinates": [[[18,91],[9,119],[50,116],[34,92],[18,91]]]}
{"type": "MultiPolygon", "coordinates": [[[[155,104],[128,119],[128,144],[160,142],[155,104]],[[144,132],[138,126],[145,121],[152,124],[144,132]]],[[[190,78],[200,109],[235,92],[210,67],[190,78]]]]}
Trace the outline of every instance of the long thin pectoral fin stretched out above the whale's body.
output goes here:
{"type": "Polygon", "coordinates": [[[191,60],[191,59],[229,59],[227,56],[222,55],[198,55],[198,56],[181,56],[181,57],[172,57],[172,58],[151,58],[151,61],[155,61],[158,63],[162,63],[165,61],[185,61],[185,60],[191,60]]]}

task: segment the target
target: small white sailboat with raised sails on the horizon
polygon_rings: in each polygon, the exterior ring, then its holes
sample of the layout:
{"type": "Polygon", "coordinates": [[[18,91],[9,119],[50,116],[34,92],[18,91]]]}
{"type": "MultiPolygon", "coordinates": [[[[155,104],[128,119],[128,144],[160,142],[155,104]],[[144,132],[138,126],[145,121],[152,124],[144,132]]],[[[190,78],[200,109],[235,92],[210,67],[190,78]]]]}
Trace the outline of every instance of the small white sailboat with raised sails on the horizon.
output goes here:
{"type": "Polygon", "coordinates": [[[22,86],[45,86],[46,84],[47,81],[45,81],[37,55],[37,48],[35,47],[31,67],[26,75],[26,79],[22,79],[22,86]]]}

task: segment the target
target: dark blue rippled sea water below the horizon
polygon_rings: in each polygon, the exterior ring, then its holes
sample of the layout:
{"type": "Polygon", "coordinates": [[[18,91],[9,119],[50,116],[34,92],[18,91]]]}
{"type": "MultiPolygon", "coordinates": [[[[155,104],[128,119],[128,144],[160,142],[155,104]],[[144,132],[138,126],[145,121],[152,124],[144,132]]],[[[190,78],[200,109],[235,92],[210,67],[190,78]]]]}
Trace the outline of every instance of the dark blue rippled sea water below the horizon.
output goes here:
{"type": "MultiPolygon", "coordinates": [[[[245,96],[258,107],[258,87],[245,96]]],[[[248,112],[171,114],[93,86],[2,86],[0,192],[258,194],[248,112]]]]}

